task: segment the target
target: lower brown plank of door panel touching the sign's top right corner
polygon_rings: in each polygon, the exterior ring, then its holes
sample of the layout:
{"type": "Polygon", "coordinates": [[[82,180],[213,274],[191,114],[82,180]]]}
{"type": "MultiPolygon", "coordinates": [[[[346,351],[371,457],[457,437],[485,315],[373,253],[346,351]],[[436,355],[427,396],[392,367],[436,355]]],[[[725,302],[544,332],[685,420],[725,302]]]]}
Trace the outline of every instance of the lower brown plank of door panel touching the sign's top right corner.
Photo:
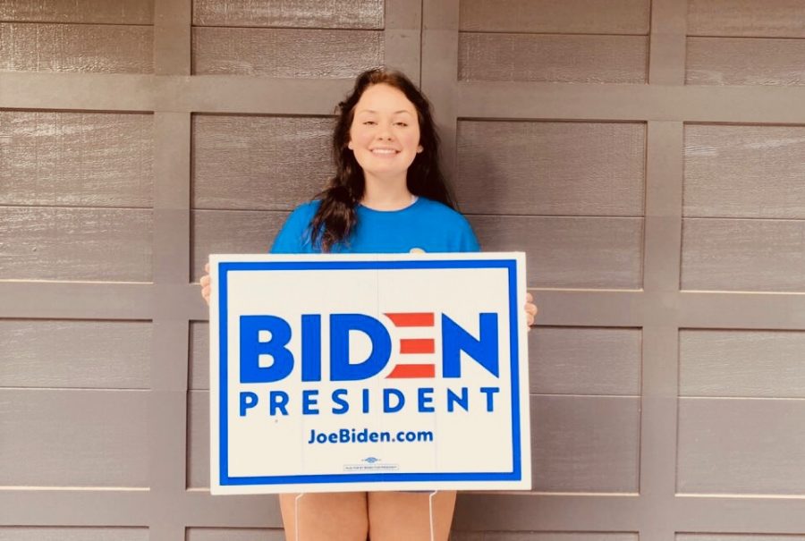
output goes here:
{"type": "Polygon", "coordinates": [[[640,289],[642,218],[468,217],[482,249],[527,253],[530,287],[640,289]]]}

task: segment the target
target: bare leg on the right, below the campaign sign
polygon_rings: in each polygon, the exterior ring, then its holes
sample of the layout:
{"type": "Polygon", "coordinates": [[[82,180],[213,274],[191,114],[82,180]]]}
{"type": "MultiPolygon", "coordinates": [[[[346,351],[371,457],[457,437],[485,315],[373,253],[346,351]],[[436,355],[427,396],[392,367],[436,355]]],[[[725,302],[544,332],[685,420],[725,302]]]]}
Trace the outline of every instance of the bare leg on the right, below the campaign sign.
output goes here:
{"type": "MultiPolygon", "coordinates": [[[[369,534],[372,541],[430,541],[430,494],[369,493],[369,534]]],[[[435,541],[447,541],[453,523],[455,491],[433,497],[435,541]]]]}

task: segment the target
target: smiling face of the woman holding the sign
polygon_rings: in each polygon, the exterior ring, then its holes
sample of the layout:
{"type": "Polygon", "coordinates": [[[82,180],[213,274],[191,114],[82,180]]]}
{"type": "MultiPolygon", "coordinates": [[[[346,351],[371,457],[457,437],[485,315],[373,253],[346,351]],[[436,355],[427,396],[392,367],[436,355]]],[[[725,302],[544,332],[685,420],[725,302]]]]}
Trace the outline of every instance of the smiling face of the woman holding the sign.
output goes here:
{"type": "Polygon", "coordinates": [[[419,146],[417,109],[401,90],[372,85],[355,105],[347,147],[366,180],[405,180],[419,146]]]}

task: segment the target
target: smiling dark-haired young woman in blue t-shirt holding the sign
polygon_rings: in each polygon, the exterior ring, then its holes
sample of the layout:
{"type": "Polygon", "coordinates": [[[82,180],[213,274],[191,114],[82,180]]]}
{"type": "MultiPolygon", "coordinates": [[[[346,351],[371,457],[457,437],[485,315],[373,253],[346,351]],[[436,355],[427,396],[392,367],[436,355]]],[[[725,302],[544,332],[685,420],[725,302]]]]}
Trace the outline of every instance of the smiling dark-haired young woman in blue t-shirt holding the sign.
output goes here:
{"type": "MultiPolygon", "coordinates": [[[[363,72],[336,113],[335,177],[292,212],[273,253],[479,250],[439,167],[428,100],[410,80],[363,72]]],[[[209,300],[208,275],[201,286],[209,300]]],[[[525,310],[531,325],[537,307],[530,295],[525,310]]],[[[454,491],[280,495],[290,541],[446,540],[454,504],[454,491]]]]}

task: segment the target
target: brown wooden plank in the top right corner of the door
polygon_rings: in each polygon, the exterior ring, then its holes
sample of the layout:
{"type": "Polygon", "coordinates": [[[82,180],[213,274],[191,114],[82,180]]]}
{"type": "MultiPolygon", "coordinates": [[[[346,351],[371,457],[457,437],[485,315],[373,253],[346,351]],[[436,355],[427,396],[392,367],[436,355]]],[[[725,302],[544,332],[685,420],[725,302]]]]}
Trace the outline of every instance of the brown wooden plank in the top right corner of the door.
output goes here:
{"type": "Polygon", "coordinates": [[[801,0],[688,0],[689,36],[805,38],[801,0]]]}

